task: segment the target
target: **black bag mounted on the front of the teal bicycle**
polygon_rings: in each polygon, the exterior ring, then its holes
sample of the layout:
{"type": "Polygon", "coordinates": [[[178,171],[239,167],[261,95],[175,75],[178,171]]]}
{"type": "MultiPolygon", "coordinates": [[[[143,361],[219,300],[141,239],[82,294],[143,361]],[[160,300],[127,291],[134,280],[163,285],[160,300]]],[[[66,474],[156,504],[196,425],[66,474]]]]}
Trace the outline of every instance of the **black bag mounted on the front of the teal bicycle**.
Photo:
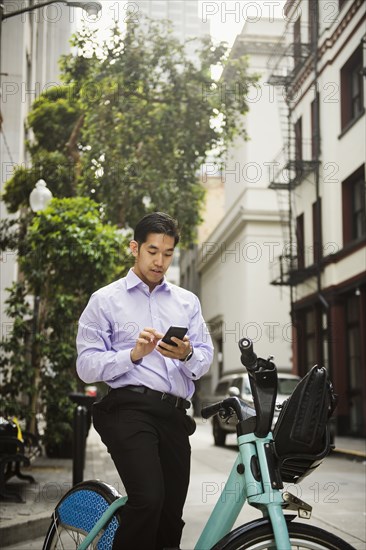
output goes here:
{"type": "Polygon", "coordinates": [[[297,483],[329,454],[329,418],[336,401],[326,369],[315,365],[283,403],[273,430],[283,481],[297,483]]]}

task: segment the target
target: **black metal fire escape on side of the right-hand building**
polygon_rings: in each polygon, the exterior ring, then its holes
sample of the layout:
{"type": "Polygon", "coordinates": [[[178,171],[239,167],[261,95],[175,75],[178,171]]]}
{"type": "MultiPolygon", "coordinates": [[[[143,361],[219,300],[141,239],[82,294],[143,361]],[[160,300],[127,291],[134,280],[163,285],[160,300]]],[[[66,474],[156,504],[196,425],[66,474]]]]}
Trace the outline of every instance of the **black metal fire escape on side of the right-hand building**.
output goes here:
{"type": "MultiPolygon", "coordinates": [[[[268,60],[268,83],[275,87],[280,111],[283,148],[271,163],[270,188],[276,190],[284,228],[285,247],[272,265],[271,284],[295,286],[308,270],[304,266],[301,238],[296,227],[294,193],[310,174],[319,173],[319,105],[317,94],[312,108],[312,138],[303,139],[302,120],[295,120],[294,106],[301,85],[309,75],[316,84],[316,42],[314,24],[302,25],[300,18],[289,22],[268,60]],[[315,67],[315,71],[314,71],[315,67]]],[[[315,177],[315,179],[317,179],[315,177]]]]}

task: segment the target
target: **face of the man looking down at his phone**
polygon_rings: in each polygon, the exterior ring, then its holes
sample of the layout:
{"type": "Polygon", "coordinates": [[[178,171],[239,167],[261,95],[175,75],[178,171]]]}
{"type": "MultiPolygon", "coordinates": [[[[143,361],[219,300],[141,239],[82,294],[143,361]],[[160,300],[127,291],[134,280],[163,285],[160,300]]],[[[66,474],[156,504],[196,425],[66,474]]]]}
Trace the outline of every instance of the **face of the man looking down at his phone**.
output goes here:
{"type": "Polygon", "coordinates": [[[163,233],[149,233],[147,240],[141,245],[131,241],[130,249],[135,256],[134,272],[152,291],[160,284],[172,263],[174,237],[163,233]]]}

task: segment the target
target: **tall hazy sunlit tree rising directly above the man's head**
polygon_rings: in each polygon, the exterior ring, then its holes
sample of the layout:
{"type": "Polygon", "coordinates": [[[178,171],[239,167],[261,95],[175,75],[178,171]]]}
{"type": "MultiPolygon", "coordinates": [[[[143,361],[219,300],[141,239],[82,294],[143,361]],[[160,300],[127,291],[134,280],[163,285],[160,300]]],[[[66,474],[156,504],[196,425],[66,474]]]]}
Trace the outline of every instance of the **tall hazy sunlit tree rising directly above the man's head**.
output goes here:
{"type": "MultiPolygon", "coordinates": [[[[239,115],[248,109],[246,94],[256,78],[241,59],[232,64],[235,93],[229,93],[211,77],[227,48],[197,42],[193,63],[160,22],[131,21],[124,35],[115,29],[100,60],[92,36],[79,37],[78,47],[94,52],[80,87],[87,147],[79,190],[105,204],[107,217],[122,227],[148,210],[167,211],[192,242],[204,196],[197,174],[209,151],[223,155],[237,132],[245,135],[239,115]]],[[[64,59],[64,71],[67,82],[79,86],[79,60],[64,59]]]]}

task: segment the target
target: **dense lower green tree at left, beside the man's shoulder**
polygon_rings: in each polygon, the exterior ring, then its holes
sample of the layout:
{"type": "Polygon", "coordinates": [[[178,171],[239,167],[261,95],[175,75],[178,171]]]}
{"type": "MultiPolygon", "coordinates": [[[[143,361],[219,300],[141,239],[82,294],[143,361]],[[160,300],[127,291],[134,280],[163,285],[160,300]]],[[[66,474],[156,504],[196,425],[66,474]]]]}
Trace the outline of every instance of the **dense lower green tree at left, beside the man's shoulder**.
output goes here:
{"type": "Polygon", "coordinates": [[[77,319],[90,294],[128,268],[126,239],[101,222],[90,199],[53,199],[32,217],[18,250],[23,276],[7,300],[14,324],[1,344],[1,396],[4,409],[26,417],[32,431],[42,403],[44,443],[52,454],[71,436],[77,319]]]}

